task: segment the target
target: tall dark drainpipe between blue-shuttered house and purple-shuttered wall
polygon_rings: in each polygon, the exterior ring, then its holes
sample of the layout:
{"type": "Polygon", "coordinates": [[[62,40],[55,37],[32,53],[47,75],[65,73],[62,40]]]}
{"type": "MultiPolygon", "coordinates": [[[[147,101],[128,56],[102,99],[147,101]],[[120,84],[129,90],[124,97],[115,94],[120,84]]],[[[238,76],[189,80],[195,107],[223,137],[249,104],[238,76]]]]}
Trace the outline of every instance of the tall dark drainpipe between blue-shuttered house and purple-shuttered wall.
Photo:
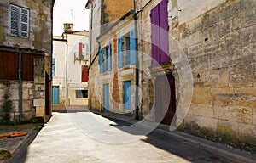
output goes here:
{"type": "Polygon", "coordinates": [[[138,87],[139,87],[139,63],[137,56],[137,17],[136,17],[136,1],[133,0],[133,20],[134,20],[134,31],[135,31],[135,41],[136,41],[136,50],[135,50],[135,120],[139,120],[139,106],[138,106],[138,87]]]}

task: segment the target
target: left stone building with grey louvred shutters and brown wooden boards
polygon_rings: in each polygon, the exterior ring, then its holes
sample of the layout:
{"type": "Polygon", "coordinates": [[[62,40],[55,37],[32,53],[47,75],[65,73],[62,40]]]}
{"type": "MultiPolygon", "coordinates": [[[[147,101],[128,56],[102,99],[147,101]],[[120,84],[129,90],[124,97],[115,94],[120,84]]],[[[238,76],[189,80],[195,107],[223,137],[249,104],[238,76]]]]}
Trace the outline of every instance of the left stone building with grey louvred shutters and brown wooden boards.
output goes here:
{"type": "Polygon", "coordinates": [[[5,121],[29,121],[34,117],[45,121],[51,115],[54,3],[0,2],[0,103],[5,121]]]}

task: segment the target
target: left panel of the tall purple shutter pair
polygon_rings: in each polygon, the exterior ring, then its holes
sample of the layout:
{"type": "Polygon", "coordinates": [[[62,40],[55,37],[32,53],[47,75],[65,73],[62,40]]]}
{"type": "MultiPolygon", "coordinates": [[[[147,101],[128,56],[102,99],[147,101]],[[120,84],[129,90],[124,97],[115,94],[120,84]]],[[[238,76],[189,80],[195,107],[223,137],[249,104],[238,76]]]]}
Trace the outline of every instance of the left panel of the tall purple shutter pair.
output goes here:
{"type": "Polygon", "coordinates": [[[152,65],[160,63],[159,13],[159,5],[154,7],[150,13],[152,65]]]}

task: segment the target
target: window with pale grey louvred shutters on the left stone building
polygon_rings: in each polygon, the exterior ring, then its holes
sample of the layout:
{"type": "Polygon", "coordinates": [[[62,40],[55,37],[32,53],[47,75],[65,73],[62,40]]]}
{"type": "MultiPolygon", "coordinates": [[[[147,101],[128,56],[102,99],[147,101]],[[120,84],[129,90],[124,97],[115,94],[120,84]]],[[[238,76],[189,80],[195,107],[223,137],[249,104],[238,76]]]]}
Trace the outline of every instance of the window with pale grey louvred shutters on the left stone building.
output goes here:
{"type": "Polygon", "coordinates": [[[29,10],[15,5],[9,6],[9,33],[12,36],[28,37],[29,10]]]}

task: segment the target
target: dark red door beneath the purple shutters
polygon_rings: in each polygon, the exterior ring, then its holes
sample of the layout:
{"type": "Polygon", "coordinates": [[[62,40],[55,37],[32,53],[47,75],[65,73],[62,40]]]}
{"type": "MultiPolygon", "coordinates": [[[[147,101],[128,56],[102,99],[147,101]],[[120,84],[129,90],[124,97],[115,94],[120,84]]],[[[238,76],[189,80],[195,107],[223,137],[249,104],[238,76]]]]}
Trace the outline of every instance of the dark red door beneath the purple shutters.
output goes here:
{"type": "Polygon", "coordinates": [[[155,121],[170,125],[176,112],[175,80],[172,75],[155,80],[155,121]]]}

